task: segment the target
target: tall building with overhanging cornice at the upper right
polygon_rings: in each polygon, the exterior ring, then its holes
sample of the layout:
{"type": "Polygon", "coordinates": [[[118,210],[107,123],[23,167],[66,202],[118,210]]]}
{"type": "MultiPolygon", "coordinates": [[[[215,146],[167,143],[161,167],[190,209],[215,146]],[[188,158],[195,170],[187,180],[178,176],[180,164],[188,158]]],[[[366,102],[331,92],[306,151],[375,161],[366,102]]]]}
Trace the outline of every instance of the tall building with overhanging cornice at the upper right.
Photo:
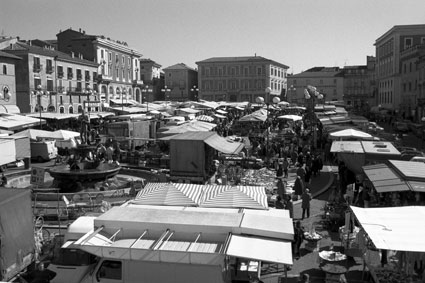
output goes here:
{"type": "MultiPolygon", "coordinates": [[[[414,99],[414,95],[411,93],[412,90],[409,91],[409,82],[413,90],[415,83],[411,81],[414,75],[407,75],[412,61],[407,59],[409,57],[407,54],[404,55],[406,59],[403,62],[401,58],[403,51],[424,42],[425,25],[394,26],[376,39],[376,80],[378,104],[381,107],[393,109],[404,117],[412,115],[409,113],[409,101],[414,99]],[[405,70],[404,66],[406,66],[406,76],[402,76],[405,70]],[[404,86],[406,86],[405,92],[403,91],[404,86]],[[408,97],[404,98],[404,95],[408,97]]],[[[412,62],[412,72],[413,69],[412,62]]]]}

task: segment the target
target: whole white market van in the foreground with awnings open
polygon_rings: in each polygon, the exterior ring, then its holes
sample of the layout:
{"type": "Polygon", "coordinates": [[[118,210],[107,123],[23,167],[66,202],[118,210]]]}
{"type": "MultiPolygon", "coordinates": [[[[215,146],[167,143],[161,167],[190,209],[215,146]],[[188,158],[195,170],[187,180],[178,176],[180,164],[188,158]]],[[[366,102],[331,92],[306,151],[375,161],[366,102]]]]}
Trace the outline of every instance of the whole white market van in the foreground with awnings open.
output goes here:
{"type": "Polygon", "coordinates": [[[248,282],[261,275],[261,261],[292,264],[293,225],[285,210],[130,201],[96,218],[80,217],[67,233],[63,261],[48,266],[56,272],[52,283],[248,282]]]}

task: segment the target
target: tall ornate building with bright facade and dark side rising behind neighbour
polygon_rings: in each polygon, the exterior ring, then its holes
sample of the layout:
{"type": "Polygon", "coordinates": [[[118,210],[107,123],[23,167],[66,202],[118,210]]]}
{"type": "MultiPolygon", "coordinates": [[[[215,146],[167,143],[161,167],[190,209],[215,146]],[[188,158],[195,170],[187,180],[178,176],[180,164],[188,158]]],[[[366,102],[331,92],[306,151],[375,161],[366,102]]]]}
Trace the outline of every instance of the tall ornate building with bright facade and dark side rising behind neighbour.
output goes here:
{"type": "Polygon", "coordinates": [[[81,29],[67,29],[56,37],[59,51],[74,53],[98,64],[97,83],[102,101],[141,102],[144,83],[140,72],[140,52],[130,48],[126,42],[103,35],[87,35],[81,29]]]}

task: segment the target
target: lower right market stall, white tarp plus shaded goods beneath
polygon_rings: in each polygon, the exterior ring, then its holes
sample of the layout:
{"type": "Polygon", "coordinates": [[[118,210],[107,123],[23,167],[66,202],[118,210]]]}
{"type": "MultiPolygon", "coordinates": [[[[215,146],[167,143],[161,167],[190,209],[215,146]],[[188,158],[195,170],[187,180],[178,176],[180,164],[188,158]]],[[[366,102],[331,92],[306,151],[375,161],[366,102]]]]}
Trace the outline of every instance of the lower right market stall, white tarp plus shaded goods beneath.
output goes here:
{"type": "Polygon", "coordinates": [[[375,283],[424,282],[425,207],[350,207],[365,270],[375,283]]]}

